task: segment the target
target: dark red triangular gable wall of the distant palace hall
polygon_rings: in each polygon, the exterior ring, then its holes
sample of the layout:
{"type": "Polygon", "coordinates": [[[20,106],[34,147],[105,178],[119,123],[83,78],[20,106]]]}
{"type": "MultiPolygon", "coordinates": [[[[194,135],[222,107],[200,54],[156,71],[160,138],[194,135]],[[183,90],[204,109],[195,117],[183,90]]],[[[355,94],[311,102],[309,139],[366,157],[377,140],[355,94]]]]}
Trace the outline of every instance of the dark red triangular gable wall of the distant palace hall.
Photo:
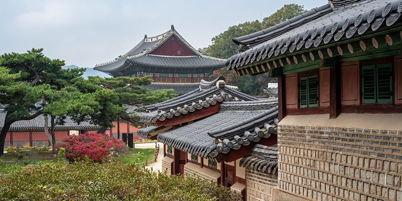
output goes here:
{"type": "Polygon", "coordinates": [[[151,54],[165,56],[195,56],[194,53],[185,48],[184,45],[173,36],[151,54]],[[177,54],[177,51],[180,51],[180,55],[177,54]]]}

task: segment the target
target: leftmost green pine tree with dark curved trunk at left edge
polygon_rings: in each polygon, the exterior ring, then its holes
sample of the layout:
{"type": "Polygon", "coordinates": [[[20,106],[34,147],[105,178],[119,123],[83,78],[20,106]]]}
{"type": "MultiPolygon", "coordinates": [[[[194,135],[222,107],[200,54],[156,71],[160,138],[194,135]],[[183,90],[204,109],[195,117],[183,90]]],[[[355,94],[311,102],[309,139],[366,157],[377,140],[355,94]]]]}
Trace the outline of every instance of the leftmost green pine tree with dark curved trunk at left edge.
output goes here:
{"type": "MultiPolygon", "coordinates": [[[[45,57],[42,50],[32,49],[24,54],[6,53],[0,56],[0,103],[6,106],[7,112],[0,133],[0,150],[4,150],[6,135],[12,123],[41,115],[43,107],[37,103],[51,96],[57,88],[68,84],[76,73],[79,74],[77,70],[62,72],[64,61],[45,57]]],[[[0,151],[2,155],[3,151],[0,151]]]]}

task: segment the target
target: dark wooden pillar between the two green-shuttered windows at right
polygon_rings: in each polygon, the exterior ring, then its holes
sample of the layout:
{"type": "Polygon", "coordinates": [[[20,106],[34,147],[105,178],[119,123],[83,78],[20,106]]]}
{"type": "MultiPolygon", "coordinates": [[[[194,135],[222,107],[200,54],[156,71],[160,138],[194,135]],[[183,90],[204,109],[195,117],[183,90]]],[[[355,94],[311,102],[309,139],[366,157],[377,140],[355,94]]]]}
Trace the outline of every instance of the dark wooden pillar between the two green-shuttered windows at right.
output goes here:
{"type": "Polygon", "coordinates": [[[336,119],[341,113],[341,66],[340,62],[330,68],[330,119],[336,119]]]}

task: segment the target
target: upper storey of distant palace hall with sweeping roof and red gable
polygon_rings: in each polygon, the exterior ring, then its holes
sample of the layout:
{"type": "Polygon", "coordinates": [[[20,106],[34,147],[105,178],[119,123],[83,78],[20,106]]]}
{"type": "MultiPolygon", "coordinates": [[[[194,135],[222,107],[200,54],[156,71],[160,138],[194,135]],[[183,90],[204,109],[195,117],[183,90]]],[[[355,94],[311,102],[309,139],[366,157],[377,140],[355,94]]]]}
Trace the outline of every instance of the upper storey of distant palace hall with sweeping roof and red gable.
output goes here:
{"type": "Polygon", "coordinates": [[[198,52],[172,25],[169,31],[158,36],[145,35],[129,52],[94,69],[114,77],[151,75],[154,82],[198,83],[224,67],[225,62],[198,52]]]}

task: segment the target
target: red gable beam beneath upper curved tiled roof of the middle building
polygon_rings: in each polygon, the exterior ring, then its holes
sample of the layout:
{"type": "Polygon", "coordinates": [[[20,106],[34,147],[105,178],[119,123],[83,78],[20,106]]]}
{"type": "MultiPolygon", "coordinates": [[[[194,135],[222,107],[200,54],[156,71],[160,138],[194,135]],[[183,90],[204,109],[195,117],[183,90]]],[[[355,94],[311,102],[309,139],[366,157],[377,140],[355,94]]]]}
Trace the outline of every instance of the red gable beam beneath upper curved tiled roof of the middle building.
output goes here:
{"type": "Polygon", "coordinates": [[[210,105],[210,107],[203,108],[201,110],[195,109],[196,111],[192,113],[188,112],[185,115],[180,114],[177,117],[173,116],[171,119],[166,118],[164,121],[157,120],[155,123],[157,126],[166,126],[166,127],[187,123],[200,118],[208,117],[212,114],[219,112],[219,105],[221,105],[221,103],[218,102],[214,106],[210,105]]]}

